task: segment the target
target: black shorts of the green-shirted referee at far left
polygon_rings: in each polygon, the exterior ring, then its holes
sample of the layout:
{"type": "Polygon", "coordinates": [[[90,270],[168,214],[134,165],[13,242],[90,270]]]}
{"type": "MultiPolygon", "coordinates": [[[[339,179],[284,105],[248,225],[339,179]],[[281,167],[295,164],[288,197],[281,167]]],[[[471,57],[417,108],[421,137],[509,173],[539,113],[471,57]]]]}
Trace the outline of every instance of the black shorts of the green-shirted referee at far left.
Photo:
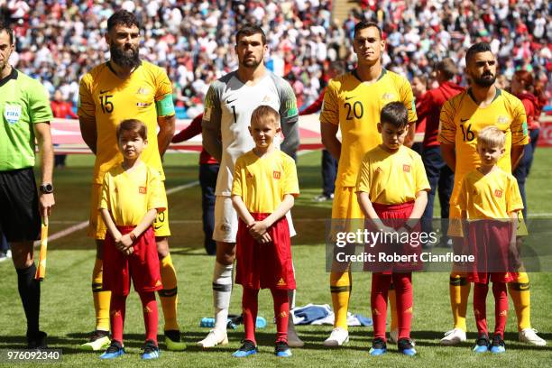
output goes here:
{"type": "Polygon", "coordinates": [[[41,214],[32,168],[0,171],[0,232],[8,242],[40,239],[41,214]]]}

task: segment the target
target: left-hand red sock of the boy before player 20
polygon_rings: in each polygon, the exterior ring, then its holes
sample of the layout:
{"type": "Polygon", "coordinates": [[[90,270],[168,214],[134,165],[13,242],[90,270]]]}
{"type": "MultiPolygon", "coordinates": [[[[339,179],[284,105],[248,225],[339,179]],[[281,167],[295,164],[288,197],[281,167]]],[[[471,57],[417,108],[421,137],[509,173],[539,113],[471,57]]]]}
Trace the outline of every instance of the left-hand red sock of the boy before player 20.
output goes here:
{"type": "MultiPolygon", "coordinates": [[[[373,338],[385,338],[385,323],[387,319],[387,293],[391,285],[391,275],[381,272],[372,274],[372,292],[370,293],[370,303],[372,305],[373,319],[373,338]]],[[[395,284],[395,289],[398,285],[395,284]]],[[[397,299],[399,296],[397,295],[397,299]]]]}

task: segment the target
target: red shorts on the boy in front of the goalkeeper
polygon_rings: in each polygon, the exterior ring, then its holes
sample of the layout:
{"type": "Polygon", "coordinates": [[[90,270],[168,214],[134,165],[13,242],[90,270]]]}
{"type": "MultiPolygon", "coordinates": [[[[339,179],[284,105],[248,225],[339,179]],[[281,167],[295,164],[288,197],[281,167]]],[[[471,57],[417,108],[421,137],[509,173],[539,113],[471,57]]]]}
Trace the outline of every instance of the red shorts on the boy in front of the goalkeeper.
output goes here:
{"type": "MultiPolygon", "coordinates": [[[[270,214],[251,214],[261,221],[270,214]]],[[[242,219],[236,237],[235,282],[249,289],[295,290],[291,261],[290,227],[282,217],[267,230],[271,243],[257,243],[242,219]]]]}

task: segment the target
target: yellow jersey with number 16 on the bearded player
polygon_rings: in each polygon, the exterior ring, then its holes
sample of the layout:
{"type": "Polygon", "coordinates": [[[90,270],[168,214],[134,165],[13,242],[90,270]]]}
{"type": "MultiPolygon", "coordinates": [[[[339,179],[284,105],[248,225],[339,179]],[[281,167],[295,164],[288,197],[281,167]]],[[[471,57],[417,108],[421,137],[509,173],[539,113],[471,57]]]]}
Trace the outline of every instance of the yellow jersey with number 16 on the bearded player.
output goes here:
{"type": "Polygon", "coordinates": [[[498,166],[511,172],[511,146],[529,143],[527,118],[521,101],[501,89],[491,105],[477,106],[469,90],[446,101],[441,109],[439,142],[455,144],[455,182],[475,170],[481,160],[477,154],[477,133],[484,127],[495,125],[506,134],[506,153],[498,166]]]}

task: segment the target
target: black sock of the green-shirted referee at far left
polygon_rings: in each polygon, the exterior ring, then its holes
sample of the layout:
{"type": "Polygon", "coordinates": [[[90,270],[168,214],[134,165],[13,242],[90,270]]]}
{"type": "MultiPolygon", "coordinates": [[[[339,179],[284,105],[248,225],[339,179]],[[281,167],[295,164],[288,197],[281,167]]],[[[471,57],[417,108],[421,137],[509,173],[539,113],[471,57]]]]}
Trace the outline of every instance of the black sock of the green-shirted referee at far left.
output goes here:
{"type": "Polygon", "coordinates": [[[34,263],[26,269],[16,269],[17,289],[27,317],[27,336],[39,332],[39,314],[41,311],[41,282],[34,280],[36,266],[34,263]]]}

